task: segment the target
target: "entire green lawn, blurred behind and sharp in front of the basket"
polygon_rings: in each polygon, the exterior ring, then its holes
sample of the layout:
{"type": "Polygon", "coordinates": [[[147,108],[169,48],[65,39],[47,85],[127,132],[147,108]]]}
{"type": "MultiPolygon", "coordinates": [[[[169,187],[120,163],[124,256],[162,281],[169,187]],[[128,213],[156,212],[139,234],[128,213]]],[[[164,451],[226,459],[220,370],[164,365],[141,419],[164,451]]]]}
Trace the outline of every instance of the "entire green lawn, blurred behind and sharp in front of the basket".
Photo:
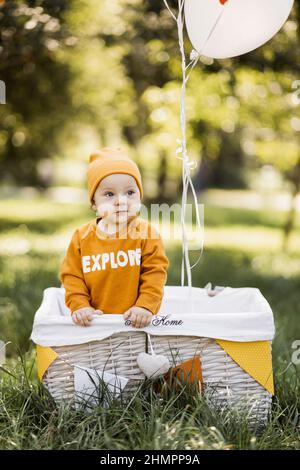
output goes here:
{"type": "MultiPolygon", "coordinates": [[[[300,449],[299,366],[290,365],[300,339],[299,226],[281,251],[282,214],[205,207],[205,250],[193,284],[258,287],[275,315],[276,397],[262,435],[232,416],[214,415],[183,391],[161,400],[150,387],[128,406],[85,415],[58,409],[38,383],[29,341],[43,290],[59,286],[59,263],[73,229],[92,216],[83,205],[50,201],[0,203],[0,339],[8,371],[0,372],[0,448],[3,449],[300,449]],[[23,362],[20,361],[23,357],[23,362]],[[137,432],[138,429],[138,432],[137,432]]],[[[181,247],[166,243],[168,284],[180,284],[181,247]]],[[[198,253],[191,252],[192,261],[198,253]]]]}

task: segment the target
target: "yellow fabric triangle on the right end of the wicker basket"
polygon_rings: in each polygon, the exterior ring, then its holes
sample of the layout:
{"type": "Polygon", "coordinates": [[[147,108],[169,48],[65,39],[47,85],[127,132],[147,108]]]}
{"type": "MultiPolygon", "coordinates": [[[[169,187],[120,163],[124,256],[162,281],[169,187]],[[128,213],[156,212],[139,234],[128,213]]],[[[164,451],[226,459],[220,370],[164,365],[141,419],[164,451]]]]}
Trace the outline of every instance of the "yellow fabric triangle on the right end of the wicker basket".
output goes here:
{"type": "Polygon", "coordinates": [[[217,339],[216,342],[245,372],[274,395],[272,354],[269,341],[241,343],[217,339]]]}

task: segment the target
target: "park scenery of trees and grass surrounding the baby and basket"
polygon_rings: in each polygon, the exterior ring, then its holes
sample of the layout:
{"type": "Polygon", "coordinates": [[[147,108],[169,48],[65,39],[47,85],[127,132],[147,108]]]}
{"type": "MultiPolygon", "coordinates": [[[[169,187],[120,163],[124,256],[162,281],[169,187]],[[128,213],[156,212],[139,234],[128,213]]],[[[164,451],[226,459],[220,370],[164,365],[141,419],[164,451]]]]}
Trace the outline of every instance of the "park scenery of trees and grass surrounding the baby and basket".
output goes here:
{"type": "MultiPolygon", "coordinates": [[[[11,342],[6,367],[18,371],[0,372],[1,448],[300,448],[299,365],[291,362],[300,340],[299,28],[295,2],[265,46],[235,59],[201,57],[186,97],[205,219],[193,285],[258,287],[270,302],[277,329],[270,428],[256,438],[203,409],[192,426],[154,407],[153,427],[141,419],[143,437],[134,422],[120,435],[109,411],[111,425],[88,434],[99,416],[81,417],[79,426],[39,388],[33,317],[43,290],[60,286],[73,230],[94,216],[85,186],[91,151],[122,146],[141,169],[146,205],[180,203],[176,24],[162,0],[1,2],[0,339],[11,342]]],[[[185,45],[188,55],[187,37],[185,45]]],[[[179,285],[181,245],[165,246],[168,284],[179,285]]]]}

